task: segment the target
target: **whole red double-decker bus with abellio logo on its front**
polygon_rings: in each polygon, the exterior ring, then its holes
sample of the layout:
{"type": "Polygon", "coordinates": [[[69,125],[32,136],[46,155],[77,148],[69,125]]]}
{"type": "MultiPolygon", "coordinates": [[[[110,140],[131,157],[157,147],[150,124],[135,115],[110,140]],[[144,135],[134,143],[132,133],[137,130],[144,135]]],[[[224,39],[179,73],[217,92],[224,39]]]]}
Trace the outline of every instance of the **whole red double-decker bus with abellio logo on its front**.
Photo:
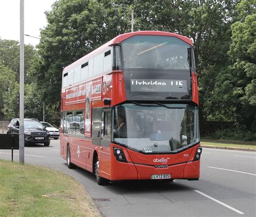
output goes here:
{"type": "Polygon", "coordinates": [[[198,84],[190,39],[125,33],[65,67],[60,154],[107,180],[200,174],[198,84]]]}

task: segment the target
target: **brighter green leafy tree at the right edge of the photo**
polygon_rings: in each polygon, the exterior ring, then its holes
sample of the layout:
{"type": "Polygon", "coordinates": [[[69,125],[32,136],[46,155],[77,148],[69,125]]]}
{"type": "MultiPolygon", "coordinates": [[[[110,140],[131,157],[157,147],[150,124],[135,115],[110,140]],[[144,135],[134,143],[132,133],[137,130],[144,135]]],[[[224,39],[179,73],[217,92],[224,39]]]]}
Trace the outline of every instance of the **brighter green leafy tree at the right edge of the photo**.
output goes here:
{"type": "Polygon", "coordinates": [[[241,1],[237,10],[240,21],[232,25],[233,96],[238,98],[236,121],[256,132],[256,13],[254,1],[241,1]],[[246,10],[241,10],[246,9],[246,10]],[[253,13],[254,11],[254,13],[253,13]]]}

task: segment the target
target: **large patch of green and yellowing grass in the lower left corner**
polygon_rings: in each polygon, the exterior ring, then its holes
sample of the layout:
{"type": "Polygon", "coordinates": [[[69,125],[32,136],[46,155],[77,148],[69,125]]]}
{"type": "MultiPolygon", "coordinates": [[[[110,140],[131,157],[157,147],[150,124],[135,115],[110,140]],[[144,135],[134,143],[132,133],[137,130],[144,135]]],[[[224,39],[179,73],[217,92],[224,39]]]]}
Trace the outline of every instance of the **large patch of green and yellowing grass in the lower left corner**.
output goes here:
{"type": "Polygon", "coordinates": [[[99,216],[85,189],[63,173],[0,160],[0,216],[99,216]]]}

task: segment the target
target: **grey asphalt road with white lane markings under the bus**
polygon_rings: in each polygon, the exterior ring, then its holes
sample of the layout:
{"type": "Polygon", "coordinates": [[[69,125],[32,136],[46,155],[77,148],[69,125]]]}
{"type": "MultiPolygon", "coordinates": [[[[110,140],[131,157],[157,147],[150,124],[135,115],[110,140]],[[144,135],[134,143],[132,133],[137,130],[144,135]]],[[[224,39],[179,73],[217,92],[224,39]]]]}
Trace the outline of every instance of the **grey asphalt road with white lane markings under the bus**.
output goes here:
{"type": "MultiPolygon", "coordinates": [[[[102,216],[256,216],[256,152],[203,148],[199,181],[122,181],[99,186],[82,168],[68,169],[59,140],[25,146],[25,163],[57,169],[82,184],[102,216]]],[[[0,150],[0,159],[11,159],[0,150]]],[[[18,150],[14,160],[18,161],[18,150]]]]}

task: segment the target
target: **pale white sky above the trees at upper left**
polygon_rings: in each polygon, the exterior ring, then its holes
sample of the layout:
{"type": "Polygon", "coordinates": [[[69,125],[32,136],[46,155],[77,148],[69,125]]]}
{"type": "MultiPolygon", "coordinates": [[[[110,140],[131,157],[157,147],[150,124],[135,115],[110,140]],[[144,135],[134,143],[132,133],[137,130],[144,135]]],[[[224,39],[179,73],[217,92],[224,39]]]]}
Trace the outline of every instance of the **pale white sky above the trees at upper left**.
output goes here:
{"type": "MultiPolygon", "coordinates": [[[[51,10],[56,0],[24,0],[24,33],[40,37],[40,29],[47,25],[44,12],[51,10]]],[[[0,0],[0,37],[19,41],[20,0],[0,0]]],[[[36,46],[39,39],[24,36],[25,44],[36,46]]]]}

